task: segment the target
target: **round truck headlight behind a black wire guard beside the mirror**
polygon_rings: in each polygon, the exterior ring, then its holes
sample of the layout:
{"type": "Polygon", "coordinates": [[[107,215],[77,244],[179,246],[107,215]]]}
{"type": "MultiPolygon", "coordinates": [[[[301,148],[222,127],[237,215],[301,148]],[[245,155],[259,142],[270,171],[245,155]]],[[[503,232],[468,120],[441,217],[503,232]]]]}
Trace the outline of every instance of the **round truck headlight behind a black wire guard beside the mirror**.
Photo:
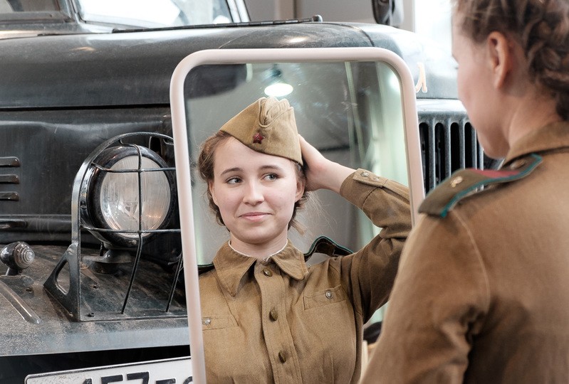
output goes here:
{"type": "Polygon", "coordinates": [[[142,146],[115,146],[103,151],[90,169],[84,222],[102,228],[95,237],[113,245],[137,245],[165,228],[174,210],[172,171],[154,151],[142,146]],[[140,181],[140,182],[139,182],[140,181]],[[109,231],[110,230],[110,231],[109,231]]]}

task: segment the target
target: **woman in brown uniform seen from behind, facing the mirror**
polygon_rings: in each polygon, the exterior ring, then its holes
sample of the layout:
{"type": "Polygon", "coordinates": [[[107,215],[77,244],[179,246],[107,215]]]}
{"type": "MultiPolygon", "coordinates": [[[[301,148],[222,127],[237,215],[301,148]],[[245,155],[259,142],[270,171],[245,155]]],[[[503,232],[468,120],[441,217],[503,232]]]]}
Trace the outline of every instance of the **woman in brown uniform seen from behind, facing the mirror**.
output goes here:
{"type": "Polygon", "coordinates": [[[453,16],[459,97],[504,162],[419,208],[363,382],[569,383],[569,1],[453,16]]]}

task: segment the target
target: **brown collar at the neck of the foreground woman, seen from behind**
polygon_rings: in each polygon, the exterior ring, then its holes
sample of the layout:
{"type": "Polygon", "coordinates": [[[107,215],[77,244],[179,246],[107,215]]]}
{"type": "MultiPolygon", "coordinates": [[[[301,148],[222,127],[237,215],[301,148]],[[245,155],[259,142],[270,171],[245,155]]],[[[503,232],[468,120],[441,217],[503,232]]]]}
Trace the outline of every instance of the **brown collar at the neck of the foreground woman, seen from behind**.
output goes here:
{"type": "Polygon", "coordinates": [[[508,151],[504,166],[531,153],[569,147],[569,122],[555,122],[519,139],[508,151]]]}

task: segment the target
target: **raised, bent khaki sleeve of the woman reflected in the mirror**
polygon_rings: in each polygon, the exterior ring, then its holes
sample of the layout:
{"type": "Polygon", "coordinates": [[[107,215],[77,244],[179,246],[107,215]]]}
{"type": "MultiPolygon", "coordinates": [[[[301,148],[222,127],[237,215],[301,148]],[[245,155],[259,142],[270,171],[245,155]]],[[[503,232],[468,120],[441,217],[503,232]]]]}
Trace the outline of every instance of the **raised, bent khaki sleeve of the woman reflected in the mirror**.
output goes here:
{"type": "Polygon", "coordinates": [[[340,194],[382,228],[365,247],[341,260],[343,284],[365,322],[390,296],[402,247],[411,230],[409,189],[358,169],[345,179],[340,194]]]}

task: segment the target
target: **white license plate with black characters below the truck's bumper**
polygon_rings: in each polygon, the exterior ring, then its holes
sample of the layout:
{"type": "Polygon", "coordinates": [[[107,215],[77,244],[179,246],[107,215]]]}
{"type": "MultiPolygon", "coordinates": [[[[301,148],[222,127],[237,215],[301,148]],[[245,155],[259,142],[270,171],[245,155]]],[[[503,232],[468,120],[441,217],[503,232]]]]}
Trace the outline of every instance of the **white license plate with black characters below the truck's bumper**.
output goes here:
{"type": "Polygon", "coordinates": [[[97,368],[62,370],[28,375],[26,384],[188,384],[192,383],[189,358],[146,361],[97,368]]]}

